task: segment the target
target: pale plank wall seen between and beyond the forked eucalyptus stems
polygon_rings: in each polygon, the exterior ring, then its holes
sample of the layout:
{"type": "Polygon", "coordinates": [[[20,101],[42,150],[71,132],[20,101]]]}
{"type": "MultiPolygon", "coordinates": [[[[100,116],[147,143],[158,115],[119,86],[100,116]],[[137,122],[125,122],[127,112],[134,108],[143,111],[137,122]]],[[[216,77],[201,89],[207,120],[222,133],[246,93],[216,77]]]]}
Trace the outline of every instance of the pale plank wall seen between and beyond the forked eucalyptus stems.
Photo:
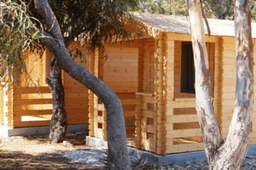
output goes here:
{"type": "MultiPolygon", "coordinates": [[[[222,37],[222,106],[221,106],[221,128],[222,135],[226,138],[234,109],[234,99],[236,95],[236,44],[233,37],[222,37]]],[[[254,45],[254,63],[256,61],[256,40],[254,45]]],[[[253,68],[254,80],[256,78],[256,68],[253,68]]],[[[256,86],[254,84],[254,90],[256,86]]],[[[254,95],[255,96],[255,95],[254,95]]],[[[256,144],[256,109],[255,103],[252,113],[252,132],[250,134],[250,144],[256,144]]]]}

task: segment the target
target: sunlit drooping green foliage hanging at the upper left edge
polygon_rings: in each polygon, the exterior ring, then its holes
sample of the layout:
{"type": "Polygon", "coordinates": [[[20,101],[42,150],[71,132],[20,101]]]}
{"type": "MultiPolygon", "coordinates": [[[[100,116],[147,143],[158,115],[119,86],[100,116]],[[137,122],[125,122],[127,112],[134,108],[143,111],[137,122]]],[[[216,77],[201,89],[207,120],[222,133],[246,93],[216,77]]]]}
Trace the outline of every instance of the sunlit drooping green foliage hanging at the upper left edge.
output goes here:
{"type": "Polygon", "coordinates": [[[0,81],[19,83],[26,72],[25,52],[40,50],[40,38],[22,1],[0,2],[0,81]],[[32,31],[33,30],[33,31],[32,31]]]}

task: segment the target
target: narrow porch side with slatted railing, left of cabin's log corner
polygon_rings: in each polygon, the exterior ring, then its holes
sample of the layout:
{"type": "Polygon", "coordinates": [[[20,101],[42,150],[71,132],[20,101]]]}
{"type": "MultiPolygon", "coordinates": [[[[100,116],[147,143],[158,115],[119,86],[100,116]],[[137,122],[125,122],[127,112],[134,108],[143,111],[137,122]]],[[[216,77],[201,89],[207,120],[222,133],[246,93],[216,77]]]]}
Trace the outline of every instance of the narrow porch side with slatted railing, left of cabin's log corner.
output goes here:
{"type": "MultiPolygon", "coordinates": [[[[160,95],[155,95],[158,90],[157,82],[161,83],[162,73],[159,72],[157,60],[162,57],[162,40],[146,38],[140,46],[142,71],[142,88],[136,93],[136,148],[161,154],[161,130],[157,119],[157,101],[160,95]],[[158,78],[159,75],[160,77],[158,78]],[[159,79],[159,81],[156,81],[159,79]],[[159,133],[160,134],[160,133],[159,133]]],[[[162,64],[162,60],[160,65],[162,64]]],[[[161,69],[161,68],[159,68],[161,69]]],[[[162,71],[162,69],[161,69],[162,71]]],[[[161,91],[161,90],[160,90],[161,91]]],[[[160,104],[160,103],[159,103],[160,104]]],[[[161,105],[161,104],[160,104],[161,105]]],[[[159,110],[160,111],[160,110],[159,110]]]]}

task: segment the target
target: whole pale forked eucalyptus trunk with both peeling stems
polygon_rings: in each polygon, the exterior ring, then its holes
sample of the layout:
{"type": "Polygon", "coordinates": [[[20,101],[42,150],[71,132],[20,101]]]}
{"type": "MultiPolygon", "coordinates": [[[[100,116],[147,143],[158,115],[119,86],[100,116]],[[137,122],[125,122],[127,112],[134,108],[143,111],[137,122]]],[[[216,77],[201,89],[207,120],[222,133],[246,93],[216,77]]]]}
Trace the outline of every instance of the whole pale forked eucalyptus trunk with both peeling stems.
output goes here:
{"type": "Polygon", "coordinates": [[[253,45],[250,1],[235,1],[237,89],[234,113],[225,142],[211,103],[209,62],[201,7],[200,0],[188,0],[196,72],[196,110],[205,144],[205,153],[210,169],[240,169],[252,130],[253,45]]]}

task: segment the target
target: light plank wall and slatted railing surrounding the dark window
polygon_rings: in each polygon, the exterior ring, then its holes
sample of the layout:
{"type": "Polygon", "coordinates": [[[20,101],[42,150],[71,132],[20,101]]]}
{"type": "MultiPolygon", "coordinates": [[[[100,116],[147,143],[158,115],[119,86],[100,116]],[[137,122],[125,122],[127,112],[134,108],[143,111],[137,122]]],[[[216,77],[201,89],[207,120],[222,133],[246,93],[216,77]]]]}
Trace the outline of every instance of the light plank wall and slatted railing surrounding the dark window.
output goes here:
{"type": "MultiPolygon", "coordinates": [[[[167,34],[167,118],[166,118],[166,154],[204,149],[201,129],[195,109],[195,94],[181,92],[181,43],[191,41],[189,35],[167,34]]],[[[218,37],[206,37],[209,71],[211,75],[212,98],[219,82],[218,37]],[[217,61],[216,61],[217,60],[217,61]],[[216,76],[217,75],[217,76],[216,76]],[[216,79],[217,77],[217,79],[216,79]]],[[[219,107],[219,101],[214,100],[219,107]]],[[[218,115],[218,114],[217,114],[218,115]]]]}

